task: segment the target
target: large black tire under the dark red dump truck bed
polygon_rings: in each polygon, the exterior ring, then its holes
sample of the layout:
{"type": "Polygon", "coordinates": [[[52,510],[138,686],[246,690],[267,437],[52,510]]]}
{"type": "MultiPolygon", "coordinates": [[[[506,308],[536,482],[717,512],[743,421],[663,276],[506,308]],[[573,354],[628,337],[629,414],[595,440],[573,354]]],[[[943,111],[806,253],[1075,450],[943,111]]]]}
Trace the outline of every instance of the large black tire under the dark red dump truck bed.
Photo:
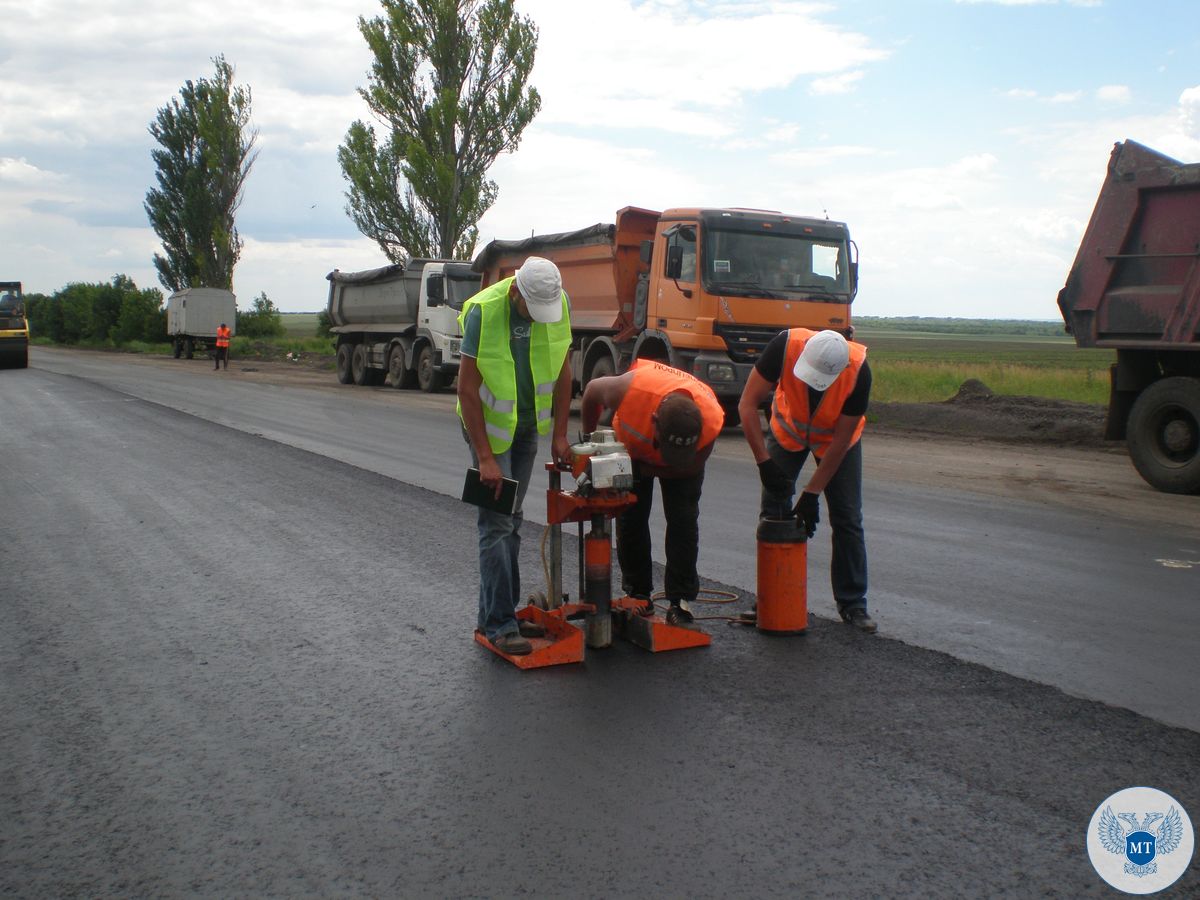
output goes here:
{"type": "Polygon", "coordinates": [[[1200,378],[1163,378],[1129,410],[1126,444],[1138,474],[1166,493],[1200,493],[1200,378]]]}

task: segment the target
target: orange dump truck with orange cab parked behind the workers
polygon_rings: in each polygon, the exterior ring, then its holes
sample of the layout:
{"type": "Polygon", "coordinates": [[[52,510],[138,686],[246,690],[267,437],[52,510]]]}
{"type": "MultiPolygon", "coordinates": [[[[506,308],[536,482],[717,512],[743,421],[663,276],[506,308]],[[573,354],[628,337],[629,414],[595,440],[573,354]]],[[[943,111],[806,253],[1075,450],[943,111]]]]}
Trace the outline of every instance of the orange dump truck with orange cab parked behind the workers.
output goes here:
{"type": "Polygon", "coordinates": [[[527,257],[553,260],[571,300],[576,388],[659,359],[708,384],[737,424],[750,368],[785,328],[851,334],[857,247],[842,222],[746,209],[625,206],[612,224],[493,240],[484,287],[527,257]]]}

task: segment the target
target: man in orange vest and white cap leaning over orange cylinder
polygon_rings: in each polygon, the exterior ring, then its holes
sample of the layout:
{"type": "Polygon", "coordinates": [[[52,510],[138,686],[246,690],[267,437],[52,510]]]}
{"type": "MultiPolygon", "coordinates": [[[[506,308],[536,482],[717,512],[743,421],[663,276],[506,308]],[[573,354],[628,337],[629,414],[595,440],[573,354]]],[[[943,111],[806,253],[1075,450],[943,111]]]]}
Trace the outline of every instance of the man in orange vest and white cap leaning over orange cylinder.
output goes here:
{"type": "MultiPolygon", "coordinates": [[[[738,413],[758,466],[761,518],[796,516],[808,538],[821,521],[823,493],[833,529],[830,583],[842,622],[871,634],[866,611],[866,541],[863,534],[863,428],[871,396],[866,348],[836,331],[793,328],[779,332],[750,371],[738,413]],[[770,427],[758,409],[770,392],[770,427]],[[816,468],[792,505],[809,455],[816,468]]],[[[743,613],[755,622],[755,612],[743,613]]]]}

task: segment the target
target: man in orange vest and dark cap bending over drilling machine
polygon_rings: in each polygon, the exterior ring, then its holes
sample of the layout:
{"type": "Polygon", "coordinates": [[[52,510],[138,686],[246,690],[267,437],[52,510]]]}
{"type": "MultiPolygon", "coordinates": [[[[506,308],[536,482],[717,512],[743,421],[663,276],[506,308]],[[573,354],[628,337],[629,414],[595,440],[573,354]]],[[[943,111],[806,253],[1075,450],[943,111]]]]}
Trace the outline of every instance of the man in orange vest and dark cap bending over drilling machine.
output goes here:
{"type": "MultiPolygon", "coordinates": [[[[580,419],[592,432],[605,409],[614,410],[612,427],[634,461],[637,503],[617,517],[617,562],[622,589],[649,604],[654,569],[650,560],[650,508],[654,479],[662,492],[667,623],[695,628],[689,604],[700,593],[700,493],[704,463],[725,426],[725,410],[713,389],[698,378],[655,360],[636,360],[620,376],[593,378],[583,390],[580,419]]],[[[648,605],[648,612],[653,612],[648,605]]]]}

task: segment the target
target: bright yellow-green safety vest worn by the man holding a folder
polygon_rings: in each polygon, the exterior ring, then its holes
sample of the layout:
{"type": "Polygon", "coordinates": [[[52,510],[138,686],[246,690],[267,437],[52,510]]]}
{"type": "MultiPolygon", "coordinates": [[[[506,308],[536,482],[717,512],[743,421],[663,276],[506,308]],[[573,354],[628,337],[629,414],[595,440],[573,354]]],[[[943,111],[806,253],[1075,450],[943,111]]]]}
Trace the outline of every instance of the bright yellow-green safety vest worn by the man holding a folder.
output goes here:
{"type": "MultiPolygon", "coordinates": [[[[463,304],[458,328],[466,330],[472,307],[480,308],[479,366],[481,383],[479,400],[484,409],[487,443],[493,454],[503,454],[512,445],[517,430],[517,372],[509,346],[509,288],[512,278],[504,278],[480,290],[463,304]]],[[[550,432],[554,415],[554,386],[558,373],[571,346],[571,322],[566,294],[563,294],[563,317],[550,325],[534,322],[529,330],[529,370],[533,373],[534,413],[538,433],[550,432]]],[[[457,407],[462,419],[462,406],[457,407]]]]}

